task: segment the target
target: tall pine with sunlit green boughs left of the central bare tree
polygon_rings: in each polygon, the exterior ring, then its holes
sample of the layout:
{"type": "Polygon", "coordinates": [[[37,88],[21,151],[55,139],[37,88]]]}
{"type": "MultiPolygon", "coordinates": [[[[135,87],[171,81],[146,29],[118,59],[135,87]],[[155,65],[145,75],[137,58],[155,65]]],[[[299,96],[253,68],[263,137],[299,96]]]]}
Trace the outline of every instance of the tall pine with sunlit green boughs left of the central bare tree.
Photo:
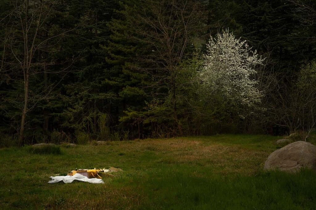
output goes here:
{"type": "Polygon", "coordinates": [[[113,123],[120,129],[136,130],[131,133],[140,138],[140,130],[143,130],[144,106],[146,96],[145,86],[148,75],[137,71],[138,65],[135,58],[146,54],[140,50],[140,44],[135,38],[136,31],[129,24],[129,19],[134,18],[134,12],[140,10],[138,0],[121,3],[115,10],[116,18],[107,24],[111,31],[108,42],[104,45],[107,52],[106,61],[111,66],[107,71],[105,84],[108,85],[115,98],[112,99],[113,123]]]}

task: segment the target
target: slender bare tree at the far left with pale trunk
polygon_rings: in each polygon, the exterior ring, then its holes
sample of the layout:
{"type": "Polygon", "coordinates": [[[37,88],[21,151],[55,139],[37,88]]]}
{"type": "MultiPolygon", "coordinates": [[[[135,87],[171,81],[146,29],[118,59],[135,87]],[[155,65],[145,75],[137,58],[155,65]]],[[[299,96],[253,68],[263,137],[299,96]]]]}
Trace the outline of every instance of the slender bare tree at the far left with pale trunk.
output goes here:
{"type": "MultiPolygon", "coordinates": [[[[54,50],[53,46],[71,30],[47,33],[47,21],[58,6],[57,0],[11,0],[10,3],[12,11],[1,20],[7,26],[1,69],[5,64],[8,75],[21,75],[23,78],[24,99],[18,130],[18,145],[22,146],[27,112],[36,105],[29,107],[30,76],[49,72],[46,66],[54,62],[44,58],[44,52],[54,50]]],[[[39,100],[41,95],[41,99],[47,99],[52,87],[45,86],[46,90],[39,90],[32,98],[39,100]],[[46,92],[44,96],[43,92],[46,92]]]]}

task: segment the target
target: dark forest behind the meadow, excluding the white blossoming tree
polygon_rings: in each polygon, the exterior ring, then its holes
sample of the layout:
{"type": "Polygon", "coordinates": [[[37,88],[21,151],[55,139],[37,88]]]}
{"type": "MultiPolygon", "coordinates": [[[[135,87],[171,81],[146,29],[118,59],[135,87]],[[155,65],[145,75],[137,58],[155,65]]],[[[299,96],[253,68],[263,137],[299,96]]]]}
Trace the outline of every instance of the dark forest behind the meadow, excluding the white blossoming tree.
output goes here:
{"type": "Polygon", "coordinates": [[[2,0],[0,138],[23,145],[308,133],[316,118],[315,6],[2,0]],[[192,82],[205,43],[226,29],[265,58],[256,76],[264,93],[258,111],[200,94],[192,82]]]}

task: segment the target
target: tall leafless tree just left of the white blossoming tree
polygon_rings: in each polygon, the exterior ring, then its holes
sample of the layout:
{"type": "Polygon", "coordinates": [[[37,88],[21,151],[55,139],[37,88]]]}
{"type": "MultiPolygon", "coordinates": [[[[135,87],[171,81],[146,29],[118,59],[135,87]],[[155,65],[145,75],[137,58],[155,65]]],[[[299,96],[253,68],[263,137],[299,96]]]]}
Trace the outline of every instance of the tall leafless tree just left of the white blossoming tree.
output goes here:
{"type": "MultiPolygon", "coordinates": [[[[176,78],[180,62],[189,55],[195,37],[205,33],[204,4],[196,0],[140,1],[140,12],[131,10],[129,24],[136,30],[134,37],[147,54],[139,55],[138,70],[151,76],[155,94],[170,99],[173,119],[183,135],[177,115],[176,78]],[[168,93],[160,91],[168,89],[168,93]],[[158,90],[158,91],[157,91],[158,90]]],[[[156,95],[157,96],[157,95],[156,95]]]]}

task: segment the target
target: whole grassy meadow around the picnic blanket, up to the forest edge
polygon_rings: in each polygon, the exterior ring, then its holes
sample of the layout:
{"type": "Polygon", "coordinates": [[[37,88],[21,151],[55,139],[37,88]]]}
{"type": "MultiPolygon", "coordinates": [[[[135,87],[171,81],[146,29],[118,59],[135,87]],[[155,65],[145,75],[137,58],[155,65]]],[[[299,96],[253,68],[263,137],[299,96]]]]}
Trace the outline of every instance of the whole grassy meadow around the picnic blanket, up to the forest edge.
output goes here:
{"type": "Polygon", "coordinates": [[[216,135],[109,142],[62,154],[0,149],[0,208],[316,209],[316,175],[263,172],[278,137],[216,135]],[[105,184],[47,184],[75,168],[119,167],[105,184]]]}

